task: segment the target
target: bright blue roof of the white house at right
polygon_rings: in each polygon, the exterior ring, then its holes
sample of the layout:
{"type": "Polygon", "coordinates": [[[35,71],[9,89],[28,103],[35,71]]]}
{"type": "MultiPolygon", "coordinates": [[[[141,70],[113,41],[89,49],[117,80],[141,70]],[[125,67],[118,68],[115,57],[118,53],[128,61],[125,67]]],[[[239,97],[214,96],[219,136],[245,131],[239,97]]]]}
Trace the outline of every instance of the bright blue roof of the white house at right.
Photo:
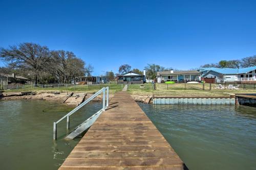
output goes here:
{"type": "Polygon", "coordinates": [[[254,69],[256,69],[256,66],[246,67],[246,68],[216,68],[216,67],[210,67],[210,68],[202,68],[200,71],[215,71],[215,72],[219,72],[219,73],[224,74],[224,75],[228,75],[228,74],[246,74],[247,72],[250,72],[254,69]]]}

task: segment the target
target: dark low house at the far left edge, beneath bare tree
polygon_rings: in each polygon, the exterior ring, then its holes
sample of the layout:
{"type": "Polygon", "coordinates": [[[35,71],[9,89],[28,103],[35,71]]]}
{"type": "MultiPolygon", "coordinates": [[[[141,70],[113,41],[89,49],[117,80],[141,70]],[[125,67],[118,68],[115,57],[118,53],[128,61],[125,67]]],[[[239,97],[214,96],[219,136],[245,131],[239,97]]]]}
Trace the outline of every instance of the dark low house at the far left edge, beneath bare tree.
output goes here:
{"type": "Polygon", "coordinates": [[[8,85],[11,83],[25,84],[25,83],[27,83],[27,81],[29,81],[28,78],[25,78],[22,76],[16,76],[14,73],[11,75],[0,73],[1,85],[8,85]]]}

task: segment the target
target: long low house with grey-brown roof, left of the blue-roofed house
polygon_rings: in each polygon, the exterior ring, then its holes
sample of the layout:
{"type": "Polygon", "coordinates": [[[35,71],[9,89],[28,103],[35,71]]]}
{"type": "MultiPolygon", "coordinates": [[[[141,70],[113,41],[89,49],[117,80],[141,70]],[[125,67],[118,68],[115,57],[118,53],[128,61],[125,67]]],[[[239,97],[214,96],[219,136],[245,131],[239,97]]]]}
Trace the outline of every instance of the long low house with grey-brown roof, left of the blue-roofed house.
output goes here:
{"type": "Polygon", "coordinates": [[[201,72],[198,70],[187,71],[158,71],[157,83],[164,83],[167,81],[174,81],[177,83],[186,83],[191,81],[201,81],[201,72]]]}

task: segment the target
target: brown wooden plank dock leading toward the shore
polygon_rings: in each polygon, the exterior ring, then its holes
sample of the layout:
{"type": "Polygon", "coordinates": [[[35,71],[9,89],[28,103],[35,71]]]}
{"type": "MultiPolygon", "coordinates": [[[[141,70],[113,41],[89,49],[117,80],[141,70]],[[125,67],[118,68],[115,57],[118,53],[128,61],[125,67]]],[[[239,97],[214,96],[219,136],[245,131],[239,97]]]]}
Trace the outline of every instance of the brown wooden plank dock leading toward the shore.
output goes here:
{"type": "Polygon", "coordinates": [[[117,92],[59,170],[187,169],[125,91],[117,92]]]}

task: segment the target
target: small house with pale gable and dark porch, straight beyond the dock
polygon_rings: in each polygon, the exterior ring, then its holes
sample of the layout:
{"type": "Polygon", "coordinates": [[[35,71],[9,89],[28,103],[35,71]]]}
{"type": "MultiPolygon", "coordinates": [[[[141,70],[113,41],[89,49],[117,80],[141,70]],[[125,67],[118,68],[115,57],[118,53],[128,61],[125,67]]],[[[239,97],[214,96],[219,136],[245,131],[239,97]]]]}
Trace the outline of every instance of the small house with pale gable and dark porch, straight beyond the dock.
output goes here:
{"type": "Polygon", "coordinates": [[[146,82],[146,71],[143,71],[143,75],[135,72],[126,72],[123,75],[117,76],[117,84],[143,84],[146,82]]]}

